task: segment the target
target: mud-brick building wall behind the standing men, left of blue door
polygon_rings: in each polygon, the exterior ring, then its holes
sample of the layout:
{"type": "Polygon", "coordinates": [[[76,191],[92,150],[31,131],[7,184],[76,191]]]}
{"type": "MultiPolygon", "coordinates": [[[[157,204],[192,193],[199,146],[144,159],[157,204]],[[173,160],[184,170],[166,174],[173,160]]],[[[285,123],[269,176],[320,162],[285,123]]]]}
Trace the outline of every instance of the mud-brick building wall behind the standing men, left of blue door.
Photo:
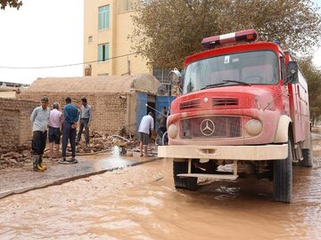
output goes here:
{"type": "MultiPolygon", "coordinates": [[[[108,134],[119,133],[119,128],[128,123],[127,99],[117,92],[21,92],[20,98],[40,100],[43,96],[49,98],[49,107],[53,102],[59,102],[61,108],[66,97],[80,108],[81,98],[86,97],[87,103],[93,107],[93,121],[90,130],[108,134]]],[[[62,109],[61,109],[62,110],[62,109]]]]}

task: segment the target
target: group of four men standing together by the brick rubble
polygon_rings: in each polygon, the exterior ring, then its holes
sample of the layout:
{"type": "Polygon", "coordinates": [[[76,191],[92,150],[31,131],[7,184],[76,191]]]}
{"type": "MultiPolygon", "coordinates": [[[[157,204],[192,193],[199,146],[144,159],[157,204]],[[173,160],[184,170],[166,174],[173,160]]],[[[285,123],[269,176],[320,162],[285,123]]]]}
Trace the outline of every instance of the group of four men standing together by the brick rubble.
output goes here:
{"type": "Polygon", "coordinates": [[[92,107],[87,104],[86,98],[81,99],[80,113],[78,108],[71,103],[70,97],[65,99],[66,105],[60,111],[59,103],[53,103],[53,109],[48,108],[47,97],[41,99],[41,106],[35,108],[30,116],[32,123],[32,161],[33,170],[43,172],[46,170],[43,164],[45,143],[48,136],[49,158],[53,159],[53,144],[56,146],[56,158],[59,157],[59,145],[62,133],[62,159],[61,164],[77,164],[76,145],[81,139],[85,128],[86,145],[89,145],[89,125],[92,120],[92,107]],[[80,118],[80,119],[79,119],[80,118]],[[77,125],[79,130],[77,136],[77,125]],[[77,136],[77,139],[76,139],[77,136]],[[71,158],[66,158],[67,145],[70,141],[71,158]]]}

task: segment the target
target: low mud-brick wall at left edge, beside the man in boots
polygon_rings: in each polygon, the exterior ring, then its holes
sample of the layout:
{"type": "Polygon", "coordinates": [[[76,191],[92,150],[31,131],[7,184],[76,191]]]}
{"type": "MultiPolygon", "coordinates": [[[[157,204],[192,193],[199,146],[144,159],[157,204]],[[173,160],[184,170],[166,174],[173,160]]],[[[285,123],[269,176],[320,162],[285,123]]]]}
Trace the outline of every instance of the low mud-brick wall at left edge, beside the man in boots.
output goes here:
{"type": "Polygon", "coordinates": [[[31,146],[30,115],[39,101],[0,98],[0,153],[31,146]]]}

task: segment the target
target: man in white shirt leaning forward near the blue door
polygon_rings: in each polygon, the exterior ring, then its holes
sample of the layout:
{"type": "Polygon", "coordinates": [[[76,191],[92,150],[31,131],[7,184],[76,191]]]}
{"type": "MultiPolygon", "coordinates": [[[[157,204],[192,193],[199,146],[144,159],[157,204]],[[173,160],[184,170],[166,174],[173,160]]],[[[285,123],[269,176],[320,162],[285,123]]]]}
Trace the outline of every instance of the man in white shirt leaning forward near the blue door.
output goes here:
{"type": "Polygon", "coordinates": [[[153,118],[152,112],[149,112],[148,115],[143,116],[141,123],[139,124],[138,134],[140,142],[140,152],[141,156],[148,156],[147,154],[147,145],[149,141],[149,133],[150,130],[153,131],[153,118]],[[144,147],[144,155],[143,155],[143,147],[144,147]]]}

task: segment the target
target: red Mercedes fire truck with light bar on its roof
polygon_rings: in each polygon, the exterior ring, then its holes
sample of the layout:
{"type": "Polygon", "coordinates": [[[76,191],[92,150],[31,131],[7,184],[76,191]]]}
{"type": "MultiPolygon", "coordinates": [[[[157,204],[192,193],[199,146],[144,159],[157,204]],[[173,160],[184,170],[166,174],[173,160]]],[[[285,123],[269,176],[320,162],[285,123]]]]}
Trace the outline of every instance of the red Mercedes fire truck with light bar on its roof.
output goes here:
{"type": "Polygon", "coordinates": [[[308,84],[289,52],[256,41],[254,29],[202,40],[184,63],[183,94],[171,103],[169,145],[176,188],[198,178],[273,180],[275,201],[290,203],[292,163],[312,165],[308,84]],[[218,166],[230,164],[229,174],[218,166]]]}

